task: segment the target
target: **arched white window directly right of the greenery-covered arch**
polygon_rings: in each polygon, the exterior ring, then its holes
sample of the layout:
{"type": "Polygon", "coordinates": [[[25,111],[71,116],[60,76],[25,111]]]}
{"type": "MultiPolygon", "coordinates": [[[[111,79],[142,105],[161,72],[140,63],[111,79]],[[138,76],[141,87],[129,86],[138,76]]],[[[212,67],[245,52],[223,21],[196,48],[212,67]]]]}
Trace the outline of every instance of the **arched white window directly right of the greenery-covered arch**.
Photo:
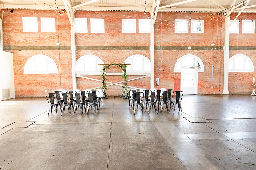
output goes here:
{"type": "Polygon", "coordinates": [[[127,65],[126,71],[134,73],[150,73],[151,72],[151,63],[149,59],[140,54],[132,55],[125,60],[127,65]]]}

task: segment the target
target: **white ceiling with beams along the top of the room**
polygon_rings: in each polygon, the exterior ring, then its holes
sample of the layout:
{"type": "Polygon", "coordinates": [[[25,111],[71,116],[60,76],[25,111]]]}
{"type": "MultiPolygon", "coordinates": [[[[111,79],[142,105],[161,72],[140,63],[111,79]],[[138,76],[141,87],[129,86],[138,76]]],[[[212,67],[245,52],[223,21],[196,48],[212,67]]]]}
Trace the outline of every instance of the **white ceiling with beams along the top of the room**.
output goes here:
{"type": "MultiPolygon", "coordinates": [[[[256,12],[256,0],[56,0],[56,3],[60,9],[75,10],[145,11],[146,7],[146,11],[155,13],[214,12],[225,9],[231,12],[256,12]],[[235,4],[239,5],[234,6],[235,4]],[[241,7],[243,4],[246,7],[241,7]]],[[[50,6],[53,10],[55,0],[0,0],[0,8],[50,10],[50,6]]]]}

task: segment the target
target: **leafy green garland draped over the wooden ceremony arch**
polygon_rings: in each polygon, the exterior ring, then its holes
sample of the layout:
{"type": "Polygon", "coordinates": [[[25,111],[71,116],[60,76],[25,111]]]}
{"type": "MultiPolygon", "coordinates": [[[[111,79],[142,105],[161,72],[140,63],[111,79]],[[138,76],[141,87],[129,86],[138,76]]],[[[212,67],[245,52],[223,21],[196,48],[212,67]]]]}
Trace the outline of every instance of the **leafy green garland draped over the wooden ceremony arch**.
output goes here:
{"type": "Polygon", "coordinates": [[[120,97],[122,97],[123,99],[129,99],[129,88],[127,88],[127,74],[126,74],[126,67],[127,66],[125,65],[125,63],[115,63],[115,62],[109,63],[108,65],[103,65],[103,67],[101,68],[101,70],[102,70],[102,73],[101,73],[102,87],[101,87],[101,89],[103,91],[104,98],[107,99],[106,71],[108,69],[110,69],[110,66],[117,66],[117,67],[120,67],[122,69],[122,78],[124,79],[124,82],[123,82],[123,89],[124,90],[122,90],[122,94],[121,94],[120,97]]]}

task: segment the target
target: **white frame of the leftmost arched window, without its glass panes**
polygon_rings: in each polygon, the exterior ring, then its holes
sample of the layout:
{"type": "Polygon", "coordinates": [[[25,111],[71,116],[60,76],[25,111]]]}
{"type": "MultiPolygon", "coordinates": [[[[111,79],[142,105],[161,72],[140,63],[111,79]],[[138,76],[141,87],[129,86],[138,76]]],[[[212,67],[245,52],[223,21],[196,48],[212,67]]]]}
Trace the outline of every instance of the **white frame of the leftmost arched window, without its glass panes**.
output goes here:
{"type": "Polygon", "coordinates": [[[37,55],[34,55],[32,57],[30,57],[27,62],[25,63],[25,66],[24,66],[24,74],[57,74],[58,73],[58,67],[55,63],[55,61],[49,57],[49,56],[46,56],[44,54],[37,54],[37,55]],[[45,57],[45,59],[47,60],[47,63],[46,63],[46,66],[47,67],[47,71],[37,71],[36,70],[36,57],[45,57]],[[33,62],[34,64],[34,70],[33,71],[27,71],[27,67],[29,66],[29,64],[33,62]],[[54,63],[54,71],[49,71],[49,62],[52,62],[54,63]]]}

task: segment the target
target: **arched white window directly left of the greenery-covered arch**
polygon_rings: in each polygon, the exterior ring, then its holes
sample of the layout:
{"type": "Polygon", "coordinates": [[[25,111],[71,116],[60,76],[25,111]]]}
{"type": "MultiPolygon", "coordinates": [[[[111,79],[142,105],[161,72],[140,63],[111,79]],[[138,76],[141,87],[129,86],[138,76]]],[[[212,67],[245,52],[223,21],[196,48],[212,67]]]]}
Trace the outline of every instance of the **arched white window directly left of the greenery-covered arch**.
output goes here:
{"type": "Polygon", "coordinates": [[[87,54],[77,60],[75,72],[77,74],[100,74],[102,65],[98,64],[104,64],[104,62],[95,55],[87,54]]]}

